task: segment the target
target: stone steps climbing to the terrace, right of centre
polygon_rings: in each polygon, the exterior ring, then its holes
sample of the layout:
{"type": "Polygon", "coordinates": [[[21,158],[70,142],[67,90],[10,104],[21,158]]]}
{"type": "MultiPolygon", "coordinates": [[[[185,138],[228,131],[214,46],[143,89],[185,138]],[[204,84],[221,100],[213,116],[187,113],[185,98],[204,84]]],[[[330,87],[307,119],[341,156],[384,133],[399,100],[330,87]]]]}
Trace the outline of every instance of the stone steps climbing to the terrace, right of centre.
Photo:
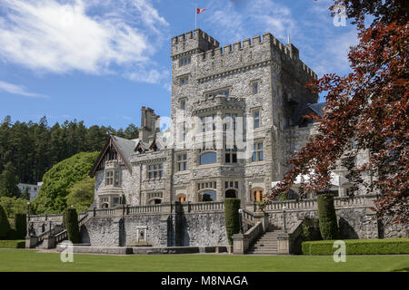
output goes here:
{"type": "Polygon", "coordinates": [[[284,233],[284,230],[277,227],[269,227],[267,231],[263,235],[258,237],[254,241],[254,244],[248,248],[246,254],[277,255],[277,236],[280,233],[284,233]]]}

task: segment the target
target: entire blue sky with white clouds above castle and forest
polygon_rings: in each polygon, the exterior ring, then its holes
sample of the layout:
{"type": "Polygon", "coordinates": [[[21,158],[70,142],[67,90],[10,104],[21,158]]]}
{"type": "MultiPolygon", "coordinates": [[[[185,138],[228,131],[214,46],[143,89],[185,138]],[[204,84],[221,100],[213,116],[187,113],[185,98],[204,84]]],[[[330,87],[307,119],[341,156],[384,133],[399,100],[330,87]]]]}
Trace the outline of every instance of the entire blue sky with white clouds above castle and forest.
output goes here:
{"type": "Polygon", "coordinates": [[[0,0],[0,120],[118,129],[170,114],[170,39],[197,27],[221,46],[270,32],[321,76],[349,73],[354,25],[329,0],[0,0]]]}

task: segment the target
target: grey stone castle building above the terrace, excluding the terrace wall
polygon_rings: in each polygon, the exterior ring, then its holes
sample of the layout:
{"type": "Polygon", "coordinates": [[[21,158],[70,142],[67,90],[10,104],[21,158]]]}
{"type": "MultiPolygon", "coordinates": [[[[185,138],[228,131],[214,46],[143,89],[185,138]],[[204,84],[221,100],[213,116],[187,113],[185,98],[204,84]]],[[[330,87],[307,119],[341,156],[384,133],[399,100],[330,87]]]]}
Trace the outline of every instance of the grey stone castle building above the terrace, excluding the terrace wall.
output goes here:
{"type": "Polygon", "coordinates": [[[172,39],[171,59],[172,136],[143,107],[140,138],[112,136],[95,163],[96,207],[115,207],[122,195],[135,206],[262,200],[284,176],[287,156],[309,136],[294,128],[306,110],[319,107],[304,87],[316,74],[294,44],[272,34],[222,49],[196,29],[172,39]],[[250,146],[240,148],[234,134],[250,146]]]}

